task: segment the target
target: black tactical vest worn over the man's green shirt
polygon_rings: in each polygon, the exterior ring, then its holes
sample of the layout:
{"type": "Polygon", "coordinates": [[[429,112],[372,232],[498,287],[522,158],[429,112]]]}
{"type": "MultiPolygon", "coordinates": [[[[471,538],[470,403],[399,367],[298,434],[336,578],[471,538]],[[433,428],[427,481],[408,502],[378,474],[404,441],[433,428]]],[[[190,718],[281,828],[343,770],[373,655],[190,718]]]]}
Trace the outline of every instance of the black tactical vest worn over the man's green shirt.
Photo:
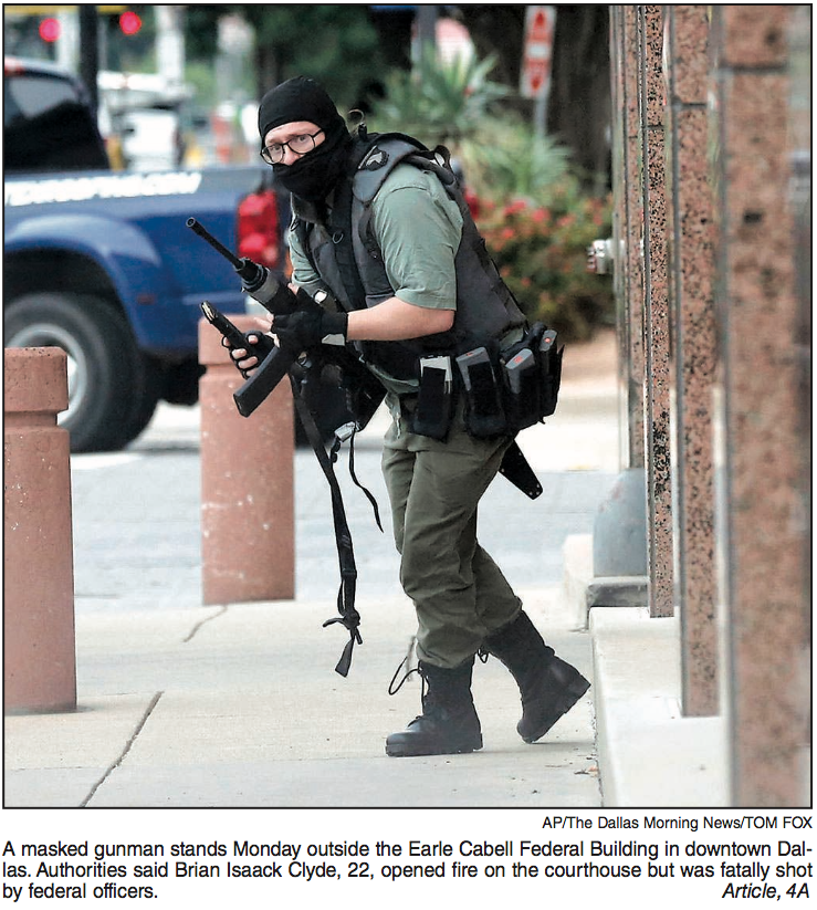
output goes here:
{"type": "Polygon", "coordinates": [[[463,220],[454,257],[453,327],[407,342],[356,343],[365,360],[398,379],[412,379],[418,376],[419,356],[463,353],[524,325],[525,317],[488,254],[444,149],[438,147],[432,153],[408,136],[383,134],[357,139],[350,163],[350,175],[335,189],[328,223],[298,208],[293,222],[315,271],[347,312],[376,306],[395,293],[371,230],[370,208],[395,167],[410,164],[433,172],[458,203],[463,220]]]}

